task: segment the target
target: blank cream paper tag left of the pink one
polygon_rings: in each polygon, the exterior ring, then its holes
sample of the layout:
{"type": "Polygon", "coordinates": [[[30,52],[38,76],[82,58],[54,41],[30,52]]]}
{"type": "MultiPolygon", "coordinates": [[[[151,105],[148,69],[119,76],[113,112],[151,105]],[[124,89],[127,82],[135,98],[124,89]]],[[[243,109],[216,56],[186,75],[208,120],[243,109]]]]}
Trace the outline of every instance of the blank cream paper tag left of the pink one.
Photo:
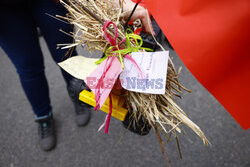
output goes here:
{"type": "Polygon", "coordinates": [[[74,56],[58,63],[58,65],[75,78],[85,80],[98,65],[95,64],[99,59],[83,56],[74,56]]]}

